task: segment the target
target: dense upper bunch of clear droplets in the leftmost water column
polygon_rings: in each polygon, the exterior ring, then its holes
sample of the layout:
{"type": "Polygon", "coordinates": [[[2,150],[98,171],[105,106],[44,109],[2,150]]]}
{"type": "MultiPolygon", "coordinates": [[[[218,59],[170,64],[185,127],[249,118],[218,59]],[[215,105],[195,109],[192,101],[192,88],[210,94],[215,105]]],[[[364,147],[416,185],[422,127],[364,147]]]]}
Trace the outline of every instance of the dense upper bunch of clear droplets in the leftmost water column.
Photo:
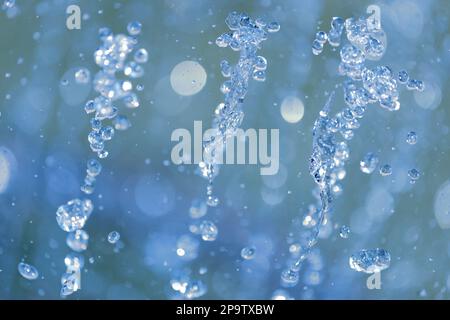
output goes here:
{"type": "Polygon", "coordinates": [[[141,32],[141,24],[131,22],[127,29],[129,35],[114,35],[108,28],[100,29],[103,44],[94,53],[96,64],[102,68],[93,79],[99,96],[86,103],[85,111],[94,115],[88,140],[92,151],[101,159],[108,156],[105,143],[114,137],[115,130],[126,130],[130,126],[126,116],[119,114],[117,104],[121,101],[131,109],[140,105],[131,79],[144,75],[142,64],[147,62],[148,53],[144,48],[137,48],[136,36],[141,32]],[[111,124],[104,124],[107,121],[111,124]]]}

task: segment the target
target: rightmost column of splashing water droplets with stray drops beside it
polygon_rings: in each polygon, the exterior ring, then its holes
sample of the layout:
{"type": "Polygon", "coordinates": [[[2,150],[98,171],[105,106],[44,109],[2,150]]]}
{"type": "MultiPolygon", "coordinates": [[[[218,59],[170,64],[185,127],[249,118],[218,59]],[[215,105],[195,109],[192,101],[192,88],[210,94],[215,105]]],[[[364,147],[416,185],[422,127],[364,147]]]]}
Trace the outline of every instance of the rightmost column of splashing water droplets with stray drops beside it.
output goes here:
{"type": "MultiPolygon", "coordinates": [[[[288,267],[282,272],[281,282],[287,287],[298,283],[300,268],[317,243],[321,228],[329,221],[332,203],[342,193],[341,181],[345,178],[345,164],[350,156],[348,141],[353,138],[354,131],[359,128],[360,119],[364,116],[367,106],[377,103],[389,111],[398,110],[400,102],[397,83],[406,84],[409,90],[424,89],[422,81],[409,79],[405,71],[400,72],[397,79],[390,67],[366,65],[368,61],[381,59],[386,51],[386,35],[380,22],[372,17],[349,18],[345,21],[334,17],[328,33],[319,31],[316,34],[312,45],[313,53],[320,54],[327,42],[333,47],[340,46],[345,41],[342,39],[344,31],[348,42],[344,43],[340,50],[339,73],[346,77],[343,83],[346,106],[332,116],[330,109],[334,92],[331,93],[320,111],[319,118],[314,123],[309,170],[316,182],[313,194],[317,203],[310,205],[304,215],[303,228],[299,232],[300,236],[296,243],[298,250],[294,254],[291,252],[288,267]]],[[[377,168],[378,162],[379,159],[375,154],[368,153],[361,160],[361,170],[370,174],[377,168]]],[[[380,169],[382,175],[389,175],[391,171],[388,165],[380,169]]],[[[410,177],[418,176],[417,172],[410,170],[409,173],[410,177]]],[[[349,234],[349,229],[340,230],[342,238],[348,237],[349,234]]],[[[370,251],[373,261],[378,261],[377,253],[380,253],[380,250],[382,249],[378,249],[374,254],[370,251]]],[[[389,254],[386,252],[385,256],[389,254]]],[[[366,265],[371,264],[367,262],[366,265]]],[[[383,264],[385,267],[388,265],[388,263],[383,264]]],[[[369,267],[366,269],[371,270],[369,267]]],[[[379,269],[381,270],[382,267],[380,266],[379,269]]]]}

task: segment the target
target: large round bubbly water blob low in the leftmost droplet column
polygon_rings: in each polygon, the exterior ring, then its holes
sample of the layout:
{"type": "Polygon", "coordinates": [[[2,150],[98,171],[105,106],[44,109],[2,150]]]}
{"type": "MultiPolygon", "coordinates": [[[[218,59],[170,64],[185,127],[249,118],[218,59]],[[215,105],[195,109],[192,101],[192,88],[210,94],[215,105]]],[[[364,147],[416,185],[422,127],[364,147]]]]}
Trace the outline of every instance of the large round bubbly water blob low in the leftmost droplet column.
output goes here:
{"type": "Polygon", "coordinates": [[[61,229],[73,232],[82,229],[91,215],[94,205],[89,199],[73,199],[56,211],[56,221],[61,229]]]}

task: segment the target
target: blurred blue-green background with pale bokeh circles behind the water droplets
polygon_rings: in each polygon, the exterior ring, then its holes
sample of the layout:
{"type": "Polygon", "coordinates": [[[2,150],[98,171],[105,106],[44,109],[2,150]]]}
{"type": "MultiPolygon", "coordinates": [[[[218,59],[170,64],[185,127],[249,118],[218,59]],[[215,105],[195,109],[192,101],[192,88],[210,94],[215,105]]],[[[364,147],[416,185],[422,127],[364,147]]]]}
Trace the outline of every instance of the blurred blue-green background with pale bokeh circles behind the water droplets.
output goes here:
{"type": "MultiPolygon", "coordinates": [[[[135,81],[144,86],[142,103],[126,111],[132,127],[108,145],[96,209],[85,228],[90,244],[82,290],[69,299],[179,298],[170,284],[179,275],[202,281],[202,298],[209,299],[449,298],[448,1],[17,0],[15,8],[0,11],[0,298],[59,298],[70,250],[55,212],[81,196],[92,157],[83,107],[95,93],[74,83],[73,73],[80,67],[98,71],[93,52],[99,27],[126,32],[132,20],[142,22],[140,46],[149,51],[146,74],[135,81]],[[381,7],[388,36],[381,62],[395,72],[408,70],[426,90],[402,87],[397,112],[370,106],[350,143],[344,193],[329,233],[299,285],[280,293],[292,221],[313,201],[312,125],[325,94],[343,80],[338,51],[327,47],[313,56],[311,43],[318,30],[329,30],[333,16],[363,15],[372,3],[381,7]],[[66,28],[69,4],[81,8],[81,30],[66,28]],[[223,99],[219,62],[234,63],[238,56],[215,45],[234,10],[281,24],[260,50],[268,60],[267,80],[251,81],[243,122],[244,128],[280,129],[280,170],[262,177],[255,165],[223,166],[216,179],[222,203],[203,218],[216,223],[219,236],[204,242],[189,231],[195,222],[189,208],[204,197],[205,181],[195,165],[171,163],[170,135],[176,128],[193,130],[194,120],[211,123],[223,99]],[[174,69],[183,61],[198,64],[174,69]],[[411,130],[418,134],[414,146],[405,142],[411,130]],[[369,151],[392,165],[392,176],[359,170],[369,151]],[[415,185],[407,177],[413,167],[422,172],[415,185]],[[343,224],[351,228],[348,239],[339,237],[343,224]],[[112,230],[121,234],[116,245],[106,240],[112,230]],[[180,257],[177,248],[186,243],[188,252],[180,257]],[[240,252],[248,245],[256,248],[255,258],[243,261],[240,252]],[[351,270],[348,258],[375,247],[388,250],[392,261],[382,272],[382,289],[368,290],[367,275],[351,270]],[[21,277],[21,261],[40,277],[21,277]]],[[[339,94],[335,110],[343,104],[339,94]]]]}

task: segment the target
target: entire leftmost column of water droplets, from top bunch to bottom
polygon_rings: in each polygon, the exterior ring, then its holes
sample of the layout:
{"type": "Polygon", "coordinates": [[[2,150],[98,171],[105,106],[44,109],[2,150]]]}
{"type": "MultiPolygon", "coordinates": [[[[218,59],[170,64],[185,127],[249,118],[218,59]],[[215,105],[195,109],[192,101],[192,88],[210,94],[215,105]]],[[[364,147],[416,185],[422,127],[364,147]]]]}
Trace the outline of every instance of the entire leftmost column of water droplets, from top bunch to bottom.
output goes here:
{"type": "MultiPolygon", "coordinates": [[[[143,48],[137,48],[136,36],[141,33],[139,22],[130,22],[127,26],[128,35],[114,35],[110,29],[101,28],[99,37],[102,45],[95,51],[94,59],[101,68],[93,77],[93,86],[98,96],[85,104],[87,114],[93,114],[91,132],[88,135],[90,148],[98,158],[108,156],[105,142],[114,137],[115,130],[126,130],[130,122],[125,115],[119,114],[118,103],[125,107],[136,108],[139,99],[132,91],[130,79],[144,75],[141,64],[147,62],[148,54],[143,48]],[[130,55],[133,56],[129,59],[130,55]],[[105,122],[111,121],[110,124],[105,122]]],[[[89,83],[90,71],[80,68],[75,72],[77,83],[89,83]]],[[[81,191],[90,195],[94,192],[97,176],[102,171],[102,165],[97,159],[89,159],[86,165],[86,176],[81,191]]],[[[94,204],[87,198],[75,198],[61,205],[56,211],[56,220],[60,228],[68,232],[66,244],[74,252],[64,259],[66,272],[61,277],[61,296],[70,295],[81,288],[81,270],[84,258],[80,254],[88,247],[89,235],[83,230],[86,221],[94,210],[94,204]]],[[[113,231],[108,235],[108,242],[117,243],[120,234],[113,231]]]]}

